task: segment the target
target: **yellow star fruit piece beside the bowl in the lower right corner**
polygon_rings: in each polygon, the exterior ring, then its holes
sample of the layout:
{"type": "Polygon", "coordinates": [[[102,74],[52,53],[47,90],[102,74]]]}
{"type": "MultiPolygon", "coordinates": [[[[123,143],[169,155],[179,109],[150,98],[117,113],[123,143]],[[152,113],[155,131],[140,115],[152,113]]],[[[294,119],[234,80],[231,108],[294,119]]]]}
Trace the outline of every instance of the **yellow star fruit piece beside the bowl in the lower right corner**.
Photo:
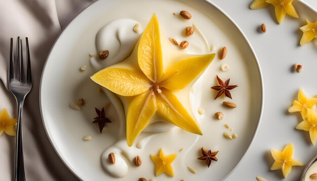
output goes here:
{"type": "Polygon", "coordinates": [[[304,164],[293,157],[293,144],[288,144],[283,151],[271,149],[271,154],[275,162],[273,163],[271,170],[282,169],[283,176],[286,178],[291,172],[292,166],[303,166],[304,164]]]}

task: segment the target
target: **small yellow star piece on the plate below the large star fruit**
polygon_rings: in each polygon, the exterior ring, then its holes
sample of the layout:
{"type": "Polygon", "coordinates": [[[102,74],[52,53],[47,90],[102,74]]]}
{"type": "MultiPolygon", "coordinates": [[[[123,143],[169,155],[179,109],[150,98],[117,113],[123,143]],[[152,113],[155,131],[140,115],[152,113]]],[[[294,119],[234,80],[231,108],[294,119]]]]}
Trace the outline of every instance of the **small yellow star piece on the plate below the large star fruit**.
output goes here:
{"type": "Polygon", "coordinates": [[[165,156],[163,149],[161,149],[159,156],[150,155],[152,161],[155,163],[155,176],[166,172],[167,174],[174,176],[173,168],[171,163],[175,160],[177,154],[165,156]]]}

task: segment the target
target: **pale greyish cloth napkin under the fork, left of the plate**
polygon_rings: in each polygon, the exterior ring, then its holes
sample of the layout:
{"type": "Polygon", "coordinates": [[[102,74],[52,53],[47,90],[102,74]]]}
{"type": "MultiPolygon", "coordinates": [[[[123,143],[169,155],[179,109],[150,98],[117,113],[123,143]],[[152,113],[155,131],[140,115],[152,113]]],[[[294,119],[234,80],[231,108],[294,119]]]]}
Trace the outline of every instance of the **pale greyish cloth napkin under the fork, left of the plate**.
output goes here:
{"type": "MultiPolygon", "coordinates": [[[[46,57],[61,30],[94,0],[0,0],[0,111],[17,118],[16,102],[8,91],[10,38],[29,38],[33,88],[23,110],[26,180],[77,180],[54,151],[39,111],[39,82],[46,57]]],[[[0,136],[0,180],[12,180],[15,137],[0,136]]]]}

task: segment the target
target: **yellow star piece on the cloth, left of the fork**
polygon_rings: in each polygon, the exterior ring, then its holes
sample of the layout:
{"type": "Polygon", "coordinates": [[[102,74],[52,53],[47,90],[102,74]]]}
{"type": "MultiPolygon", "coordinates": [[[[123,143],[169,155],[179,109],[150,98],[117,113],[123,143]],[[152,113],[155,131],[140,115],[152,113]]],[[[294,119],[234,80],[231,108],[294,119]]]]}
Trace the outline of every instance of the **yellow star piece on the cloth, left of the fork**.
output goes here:
{"type": "Polygon", "coordinates": [[[0,135],[3,132],[6,132],[8,135],[15,136],[15,124],[17,123],[17,119],[10,118],[6,109],[3,109],[0,112],[0,135]]]}

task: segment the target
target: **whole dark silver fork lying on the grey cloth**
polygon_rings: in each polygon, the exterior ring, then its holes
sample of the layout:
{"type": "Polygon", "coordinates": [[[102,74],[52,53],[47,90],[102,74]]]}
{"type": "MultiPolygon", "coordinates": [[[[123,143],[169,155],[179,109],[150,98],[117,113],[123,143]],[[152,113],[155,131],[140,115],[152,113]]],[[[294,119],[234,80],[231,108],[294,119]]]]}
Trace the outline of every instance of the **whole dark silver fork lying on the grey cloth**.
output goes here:
{"type": "Polygon", "coordinates": [[[14,181],[25,180],[24,161],[23,161],[23,146],[22,146],[22,108],[26,95],[32,88],[32,75],[30,64],[29,44],[27,37],[26,41],[26,73],[24,72],[22,40],[17,38],[17,54],[14,57],[13,53],[13,38],[10,43],[10,70],[9,70],[9,89],[14,95],[18,104],[18,128],[17,141],[15,148],[15,169],[14,181]],[[15,59],[14,59],[15,58],[15,59]]]}

